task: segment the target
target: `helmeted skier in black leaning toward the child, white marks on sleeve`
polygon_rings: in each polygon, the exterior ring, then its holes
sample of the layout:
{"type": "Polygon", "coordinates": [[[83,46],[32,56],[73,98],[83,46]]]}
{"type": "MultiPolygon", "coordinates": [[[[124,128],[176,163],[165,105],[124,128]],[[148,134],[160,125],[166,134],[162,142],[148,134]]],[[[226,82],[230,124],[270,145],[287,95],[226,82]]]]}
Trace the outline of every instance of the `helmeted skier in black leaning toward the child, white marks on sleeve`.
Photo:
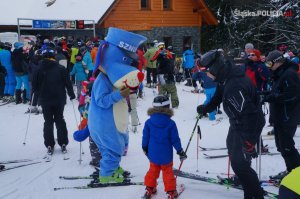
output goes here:
{"type": "Polygon", "coordinates": [[[204,115],[223,102],[230,123],[226,143],[231,167],[242,184],[244,198],[263,199],[264,190],[251,168],[251,159],[257,157],[255,145],[265,125],[255,88],[244,71],[225,58],[221,49],[205,53],[200,64],[208,68],[207,75],[219,84],[212,100],[198,106],[197,112],[204,115]]]}

